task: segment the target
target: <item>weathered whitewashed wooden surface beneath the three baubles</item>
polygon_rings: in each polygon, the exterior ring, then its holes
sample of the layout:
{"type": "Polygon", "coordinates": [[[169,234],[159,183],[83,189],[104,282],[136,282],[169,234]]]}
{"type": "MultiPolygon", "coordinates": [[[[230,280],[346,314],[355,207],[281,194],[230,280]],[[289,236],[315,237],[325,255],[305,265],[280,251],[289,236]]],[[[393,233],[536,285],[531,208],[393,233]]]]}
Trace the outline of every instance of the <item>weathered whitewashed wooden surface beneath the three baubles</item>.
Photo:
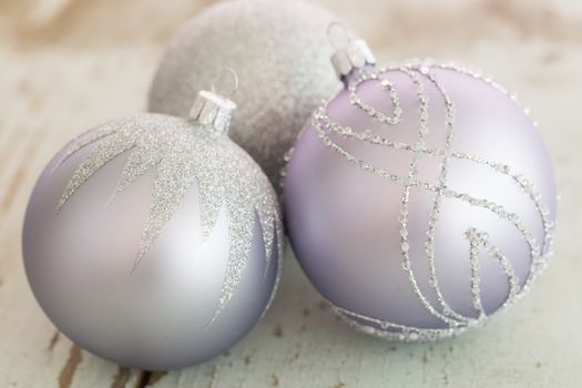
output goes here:
{"type": "Polygon", "coordinates": [[[321,303],[288,252],[265,319],[204,365],[167,374],[124,369],[55,331],[32,297],[20,254],[34,180],[82,130],[144,109],[165,42],[210,2],[0,0],[0,387],[581,387],[575,0],[319,0],[381,59],[472,63],[519,91],[539,119],[562,196],[555,256],[531,295],[484,328],[416,345],[357,334],[321,303]]]}

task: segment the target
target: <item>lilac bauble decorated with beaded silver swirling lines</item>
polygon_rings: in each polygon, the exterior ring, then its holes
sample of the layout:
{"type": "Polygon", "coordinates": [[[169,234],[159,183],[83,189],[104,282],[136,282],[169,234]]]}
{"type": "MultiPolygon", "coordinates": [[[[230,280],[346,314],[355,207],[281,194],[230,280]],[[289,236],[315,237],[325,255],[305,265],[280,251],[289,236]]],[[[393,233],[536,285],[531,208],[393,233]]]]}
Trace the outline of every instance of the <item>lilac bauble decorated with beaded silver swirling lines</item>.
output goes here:
{"type": "Polygon", "coordinates": [[[316,110],[287,165],[297,259],[366,333],[432,340],[483,323],[550,252],[555,186],[540,134],[470,70],[346,61],[346,89],[316,110]]]}

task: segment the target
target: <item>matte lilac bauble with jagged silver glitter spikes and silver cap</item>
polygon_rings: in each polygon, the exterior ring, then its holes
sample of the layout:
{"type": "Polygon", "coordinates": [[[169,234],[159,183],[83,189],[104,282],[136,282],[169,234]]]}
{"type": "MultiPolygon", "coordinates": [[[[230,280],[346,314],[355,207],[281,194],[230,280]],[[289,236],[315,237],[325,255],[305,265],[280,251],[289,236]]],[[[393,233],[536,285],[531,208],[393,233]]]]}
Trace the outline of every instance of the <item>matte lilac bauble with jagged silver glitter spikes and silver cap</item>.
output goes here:
{"type": "Polygon", "coordinates": [[[282,258],[276,194],[225,134],[234,104],[140,114],[67,145],[27,210],[23,256],[54,325],[118,364],[174,369],[245,336],[282,258]]]}

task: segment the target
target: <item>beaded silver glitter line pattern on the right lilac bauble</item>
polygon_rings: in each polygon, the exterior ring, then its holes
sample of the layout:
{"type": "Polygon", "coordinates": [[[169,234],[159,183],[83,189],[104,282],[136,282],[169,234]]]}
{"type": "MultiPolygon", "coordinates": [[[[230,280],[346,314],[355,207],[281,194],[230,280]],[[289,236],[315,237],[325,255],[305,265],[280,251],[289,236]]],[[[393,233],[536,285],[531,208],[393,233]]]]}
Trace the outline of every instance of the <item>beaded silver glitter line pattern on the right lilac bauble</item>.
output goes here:
{"type": "MultiPolygon", "coordinates": [[[[390,339],[399,340],[436,340],[445,337],[450,337],[457,334],[462,333],[469,327],[480,325],[488,317],[486,314],[480,296],[480,276],[479,276],[479,254],[484,252],[494,259],[504,276],[509,285],[509,292],[506,297],[506,300],[502,303],[501,308],[512,304],[515,299],[521,297],[531,286],[537,275],[544,268],[547,258],[551,254],[551,242],[553,235],[553,222],[550,219],[550,212],[544,206],[541,201],[540,194],[537,192],[533,184],[513,171],[509,165],[488,161],[482,159],[479,155],[472,155],[463,152],[458,152],[453,149],[455,141],[455,130],[456,130],[456,112],[455,112],[455,102],[449,96],[443,84],[438,80],[437,75],[431,69],[447,69],[451,71],[457,71],[469,76],[478,78],[492,85],[497,90],[507,94],[507,92],[501,89],[498,84],[493,83],[490,79],[481,78],[479,73],[456,65],[456,64],[435,64],[430,61],[412,61],[404,65],[392,65],[387,68],[380,68],[375,70],[359,70],[349,81],[347,88],[349,92],[349,101],[354,106],[357,106],[359,110],[365,112],[372,120],[384,124],[384,125],[396,125],[401,120],[402,109],[399,102],[398,94],[396,92],[395,85],[391,80],[389,80],[387,72],[397,71],[406,74],[412,82],[416,95],[418,99],[419,106],[419,124],[418,124],[418,135],[416,142],[411,144],[402,142],[394,142],[387,137],[374,134],[369,130],[358,130],[347,125],[341,125],[337,122],[334,122],[327,115],[328,103],[320,106],[316,110],[312,118],[312,125],[318,134],[320,141],[335,153],[344,157],[349,163],[357,165],[360,170],[372,173],[387,178],[394,183],[397,183],[404,187],[404,193],[400,200],[400,213],[399,213],[399,234],[400,234],[400,256],[401,256],[401,267],[405,270],[409,285],[412,292],[416,294],[417,298],[420,300],[422,306],[428,313],[433,317],[438,318],[440,321],[446,324],[446,328],[419,328],[410,327],[406,325],[400,325],[397,323],[386,321],[375,317],[366,316],[351,312],[339,306],[335,306],[337,313],[340,314],[346,320],[356,326],[357,328],[368,333],[374,334],[380,337],[387,337],[390,339]],[[361,83],[368,80],[377,80],[380,82],[380,86],[388,91],[391,105],[394,111],[390,114],[379,112],[377,109],[374,109],[361,102],[361,99],[358,96],[358,88],[361,83]],[[429,100],[427,93],[425,92],[425,83],[431,84],[438,91],[438,94],[445,103],[445,127],[446,127],[446,139],[443,146],[441,149],[433,149],[427,146],[426,136],[429,133],[429,100]],[[345,146],[338,144],[334,136],[339,136],[343,139],[351,139],[355,141],[367,142],[379,147],[387,147],[391,150],[402,150],[411,154],[410,164],[407,175],[394,174],[387,170],[375,166],[372,163],[353,154],[345,146]],[[418,161],[419,156],[431,155],[440,159],[440,169],[438,174],[437,183],[429,183],[421,181],[419,176],[418,161]],[[458,192],[447,185],[448,182],[448,172],[449,172],[449,162],[453,159],[466,160],[484,167],[491,169],[494,172],[509,177],[513,183],[523,192],[530,201],[533,203],[543,228],[543,241],[538,242],[532,232],[528,229],[527,225],[515,213],[512,213],[504,206],[490,201],[488,198],[479,198],[471,196],[467,193],[458,192]],[[417,277],[413,270],[413,264],[409,257],[410,244],[408,239],[408,216],[409,216],[409,197],[412,191],[423,191],[432,195],[432,205],[429,211],[428,225],[426,231],[426,241],[425,253],[426,259],[429,268],[429,286],[430,289],[435,293],[436,303],[431,303],[429,298],[423,294],[420,285],[418,284],[417,277]],[[468,203],[471,206],[487,210],[496,215],[498,218],[510,223],[513,228],[519,232],[524,242],[529,247],[529,253],[531,257],[531,266],[527,278],[523,283],[518,279],[514,268],[512,267],[511,262],[503,255],[503,253],[490,241],[488,234],[484,231],[478,231],[474,227],[469,227],[466,231],[464,238],[468,244],[469,252],[469,265],[471,273],[471,296],[472,305],[478,313],[477,318],[463,315],[459,312],[456,312],[449,306],[445,299],[441,287],[439,284],[439,276],[437,267],[435,264],[435,236],[436,229],[439,224],[439,214],[441,211],[441,203],[443,198],[453,198],[468,203]],[[520,287],[520,284],[523,286],[520,287]],[[350,319],[347,319],[350,318],[350,319]]],[[[513,98],[514,100],[514,98],[513,98]]],[[[287,160],[290,157],[287,155],[287,160]]],[[[498,309],[498,310],[499,310],[498,309]]]]}

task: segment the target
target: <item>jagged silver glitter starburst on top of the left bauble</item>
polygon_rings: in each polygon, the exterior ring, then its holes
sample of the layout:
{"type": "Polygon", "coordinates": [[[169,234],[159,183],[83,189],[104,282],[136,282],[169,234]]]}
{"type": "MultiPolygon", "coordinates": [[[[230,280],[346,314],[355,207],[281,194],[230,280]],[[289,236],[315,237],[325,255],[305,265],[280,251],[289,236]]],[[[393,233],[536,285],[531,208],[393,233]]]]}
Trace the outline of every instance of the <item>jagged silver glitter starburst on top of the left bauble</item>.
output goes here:
{"type": "Polygon", "coordinates": [[[261,167],[226,135],[215,133],[212,126],[183,119],[162,114],[135,115],[109,122],[73,141],[53,171],[90,144],[93,149],[64,187],[55,212],[59,213],[93,174],[122,153],[127,152],[129,156],[110,201],[137,177],[155,170],[152,203],[133,269],[146,259],[164,225],[192,185],[198,185],[203,242],[214,228],[221,207],[226,207],[229,255],[213,320],[233,297],[241,282],[256,219],[263,234],[266,267],[274,251],[280,262],[284,237],[275,192],[261,167]]]}

